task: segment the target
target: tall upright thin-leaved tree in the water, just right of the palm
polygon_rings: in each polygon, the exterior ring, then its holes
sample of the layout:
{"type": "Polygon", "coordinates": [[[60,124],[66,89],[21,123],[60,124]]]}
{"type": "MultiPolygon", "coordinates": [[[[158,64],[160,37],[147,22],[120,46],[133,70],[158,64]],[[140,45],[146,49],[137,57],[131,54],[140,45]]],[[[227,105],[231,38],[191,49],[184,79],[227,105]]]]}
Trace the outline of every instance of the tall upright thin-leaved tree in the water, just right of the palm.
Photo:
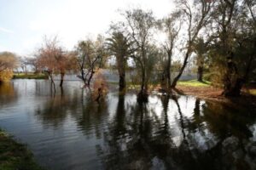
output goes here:
{"type": "Polygon", "coordinates": [[[155,19],[152,11],[143,11],[140,8],[125,11],[124,23],[127,26],[127,34],[134,41],[136,52],[133,59],[137,62],[141,72],[141,89],[138,93],[138,99],[148,99],[148,59],[150,40],[152,40],[155,19]]]}

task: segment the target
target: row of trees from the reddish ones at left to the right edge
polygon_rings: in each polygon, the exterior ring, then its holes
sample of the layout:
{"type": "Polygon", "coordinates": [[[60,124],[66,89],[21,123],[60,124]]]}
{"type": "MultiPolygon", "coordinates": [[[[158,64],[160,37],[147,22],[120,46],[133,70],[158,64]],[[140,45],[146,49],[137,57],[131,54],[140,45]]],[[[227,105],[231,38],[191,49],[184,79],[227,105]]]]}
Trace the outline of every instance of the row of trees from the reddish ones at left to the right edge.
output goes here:
{"type": "Polygon", "coordinates": [[[79,71],[84,86],[90,87],[94,74],[114,56],[119,90],[126,88],[125,71],[130,66],[140,77],[138,98],[147,99],[148,85],[155,81],[156,71],[161,87],[171,93],[192,59],[198,81],[207,78],[224,88],[224,96],[239,96],[245,83],[256,80],[256,2],[175,3],[175,10],[163,19],[142,8],[125,10],[121,13],[123,20],[111,24],[107,37],[79,41],[72,51],[61,47],[56,37],[45,38],[34,64],[49,75],[52,83],[53,74],[61,75],[62,86],[67,71],[79,71]],[[159,35],[165,40],[159,41],[159,35]],[[128,65],[129,59],[132,65],[128,65]]]}

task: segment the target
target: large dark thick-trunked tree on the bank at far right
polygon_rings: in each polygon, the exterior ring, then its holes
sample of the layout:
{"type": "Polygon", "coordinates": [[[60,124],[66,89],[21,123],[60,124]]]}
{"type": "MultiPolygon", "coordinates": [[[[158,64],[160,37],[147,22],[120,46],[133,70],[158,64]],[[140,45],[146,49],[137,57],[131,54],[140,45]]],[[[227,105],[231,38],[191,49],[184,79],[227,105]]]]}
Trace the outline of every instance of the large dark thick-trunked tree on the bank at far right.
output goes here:
{"type": "Polygon", "coordinates": [[[218,1],[212,16],[216,26],[215,55],[217,65],[223,68],[220,75],[224,84],[223,95],[239,96],[255,63],[255,2],[250,0],[218,1]]]}

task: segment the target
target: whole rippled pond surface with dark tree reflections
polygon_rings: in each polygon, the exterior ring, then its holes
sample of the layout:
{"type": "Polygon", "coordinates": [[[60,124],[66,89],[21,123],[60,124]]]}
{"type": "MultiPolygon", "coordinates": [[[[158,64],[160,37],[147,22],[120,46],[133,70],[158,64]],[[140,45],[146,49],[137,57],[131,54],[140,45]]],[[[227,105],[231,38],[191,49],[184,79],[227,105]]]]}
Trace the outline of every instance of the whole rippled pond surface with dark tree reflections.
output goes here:
{"type": "Polygon", "coordinates": [[[110,92],[97,104],[79,82],[0,86],[0,127],[49,169],[256,169],[256,111],[157,94],[110,92]]]}

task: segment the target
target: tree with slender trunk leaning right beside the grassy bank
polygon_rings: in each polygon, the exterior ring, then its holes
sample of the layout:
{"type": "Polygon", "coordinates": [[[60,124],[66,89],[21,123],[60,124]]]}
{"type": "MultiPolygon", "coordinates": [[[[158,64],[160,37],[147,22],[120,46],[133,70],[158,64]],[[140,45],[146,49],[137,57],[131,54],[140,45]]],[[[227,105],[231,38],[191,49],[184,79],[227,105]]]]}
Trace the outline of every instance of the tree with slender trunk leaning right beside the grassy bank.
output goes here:
{"type": "Polygon", "coordinates": [[[185,42],[184,60],[181,70],[178,72],[177,77],[172,81],[172,88],[177,85],[178,79],[182,76],[183,71],[188,63],[189,56],[192,54],[192,46],[195,42],[201,29],[207,25],[210,19],[210,12],[212,9],[213,1],[195,1],[190,4],[187,0],[178,0],[177,5],[180,7],[179,11],[184,17],[184,21],[187,26],[187,40],[185,42]]]}

